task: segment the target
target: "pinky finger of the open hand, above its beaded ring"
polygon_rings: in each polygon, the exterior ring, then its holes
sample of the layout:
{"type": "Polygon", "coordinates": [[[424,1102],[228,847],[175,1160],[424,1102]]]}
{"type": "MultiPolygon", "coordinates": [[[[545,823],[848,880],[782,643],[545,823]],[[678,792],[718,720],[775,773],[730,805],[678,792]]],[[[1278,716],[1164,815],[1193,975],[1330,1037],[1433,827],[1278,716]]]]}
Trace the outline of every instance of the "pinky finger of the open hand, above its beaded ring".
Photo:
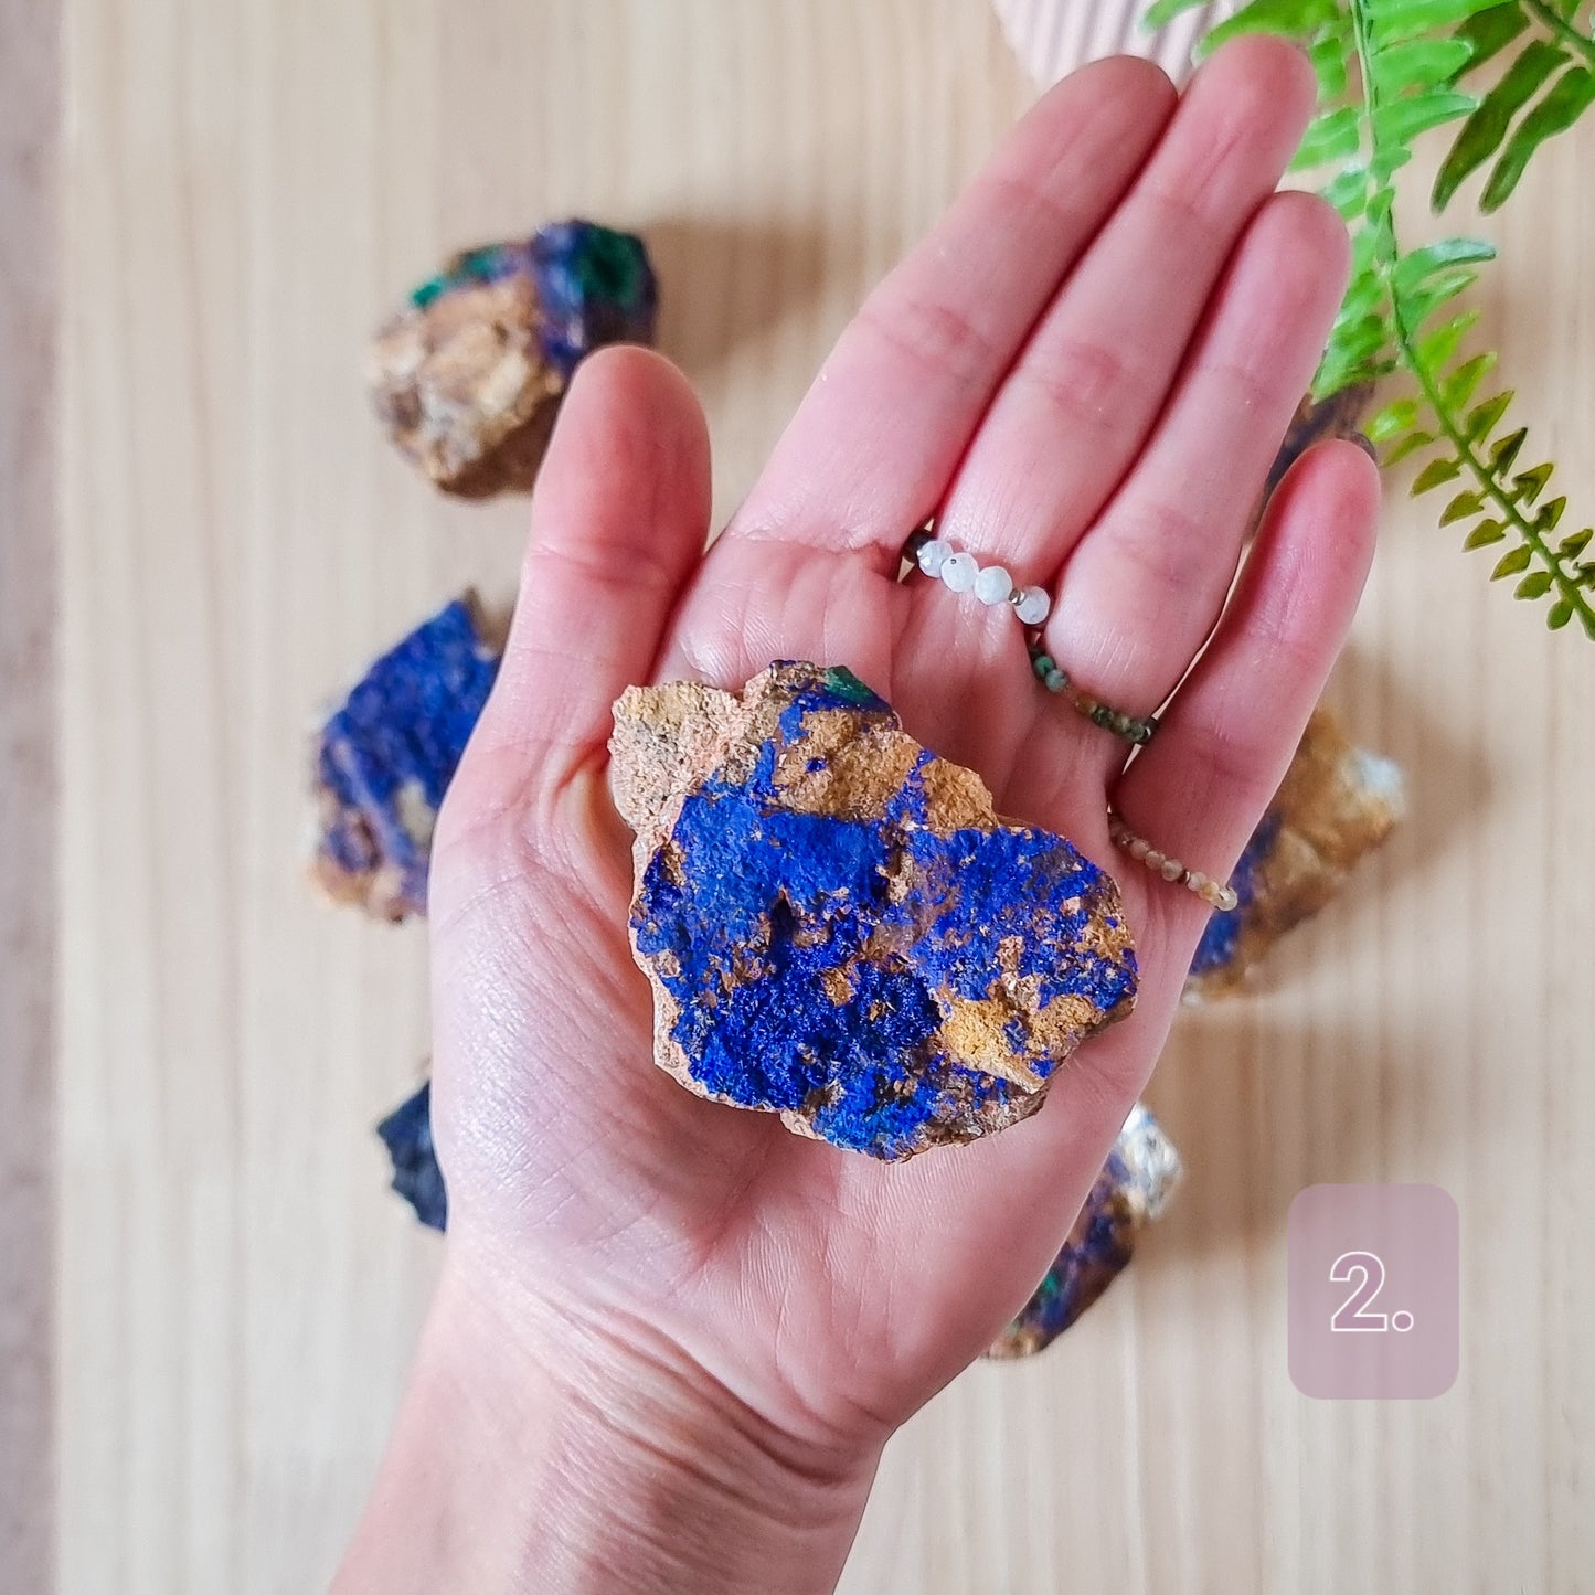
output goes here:
{"type": "MultiPolygon", "coordinates": [[[[1279,485],[1206,654],[1113,805],[1156,847],[1225,879],[1273,799],[1340,654],[1373,558],[1378,467],[1324,443],[1279,485]]],[[[1188,893],[1190,935],[1207,909],[1188,893]]]]}

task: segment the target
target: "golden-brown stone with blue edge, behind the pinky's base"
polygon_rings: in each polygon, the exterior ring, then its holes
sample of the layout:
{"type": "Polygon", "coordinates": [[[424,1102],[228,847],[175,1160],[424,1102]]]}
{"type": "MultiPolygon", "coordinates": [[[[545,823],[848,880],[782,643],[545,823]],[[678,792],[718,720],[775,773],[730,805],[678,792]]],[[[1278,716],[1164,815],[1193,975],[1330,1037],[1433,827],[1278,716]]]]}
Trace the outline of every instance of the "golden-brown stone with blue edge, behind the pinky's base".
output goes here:
{"type": "Polygon", "coordinates": [[[1236,990],[1292,925],[1340,890],[1405,809],[1397,766],[1354,748],[1335,715],[1317,708],[1230,876],[1239,904],[1207,922],[1185,979],[1187,1002],[1236,990]]]}

